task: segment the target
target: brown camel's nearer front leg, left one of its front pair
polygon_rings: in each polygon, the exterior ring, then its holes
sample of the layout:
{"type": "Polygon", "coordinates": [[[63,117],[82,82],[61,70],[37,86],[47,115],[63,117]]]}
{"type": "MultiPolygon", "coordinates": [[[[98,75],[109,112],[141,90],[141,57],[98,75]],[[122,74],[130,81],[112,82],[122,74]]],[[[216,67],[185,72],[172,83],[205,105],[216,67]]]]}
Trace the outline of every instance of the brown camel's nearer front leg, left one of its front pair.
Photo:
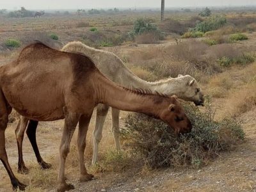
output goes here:
{"type": "Polygon", "coordinates": [[[70,148],[70,141],[76,129],[79,116],[77,113],[70,113],[67,109],[65,111],[65,125],[60,144],[60,169],[58,175],[58,191],[68,191],[74,189],[72,184],[67,184],[65,181],[65,161],[70,148]]]}

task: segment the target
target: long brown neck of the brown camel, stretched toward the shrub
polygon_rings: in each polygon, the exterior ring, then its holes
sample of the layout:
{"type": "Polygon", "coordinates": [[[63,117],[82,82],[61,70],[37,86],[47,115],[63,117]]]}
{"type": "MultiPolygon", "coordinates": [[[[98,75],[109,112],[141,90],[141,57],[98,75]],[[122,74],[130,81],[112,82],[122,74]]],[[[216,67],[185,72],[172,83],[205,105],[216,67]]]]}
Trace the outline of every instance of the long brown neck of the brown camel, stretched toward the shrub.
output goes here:
{"type": "Polygon", "coordinates": [[[108,106],[122,111],[134,111],[159,117],[164,97],[128,90],[99,73],[95,74],[95,79],[97,79],[94,82],[98,103],[108,104],[108,106]]]}

